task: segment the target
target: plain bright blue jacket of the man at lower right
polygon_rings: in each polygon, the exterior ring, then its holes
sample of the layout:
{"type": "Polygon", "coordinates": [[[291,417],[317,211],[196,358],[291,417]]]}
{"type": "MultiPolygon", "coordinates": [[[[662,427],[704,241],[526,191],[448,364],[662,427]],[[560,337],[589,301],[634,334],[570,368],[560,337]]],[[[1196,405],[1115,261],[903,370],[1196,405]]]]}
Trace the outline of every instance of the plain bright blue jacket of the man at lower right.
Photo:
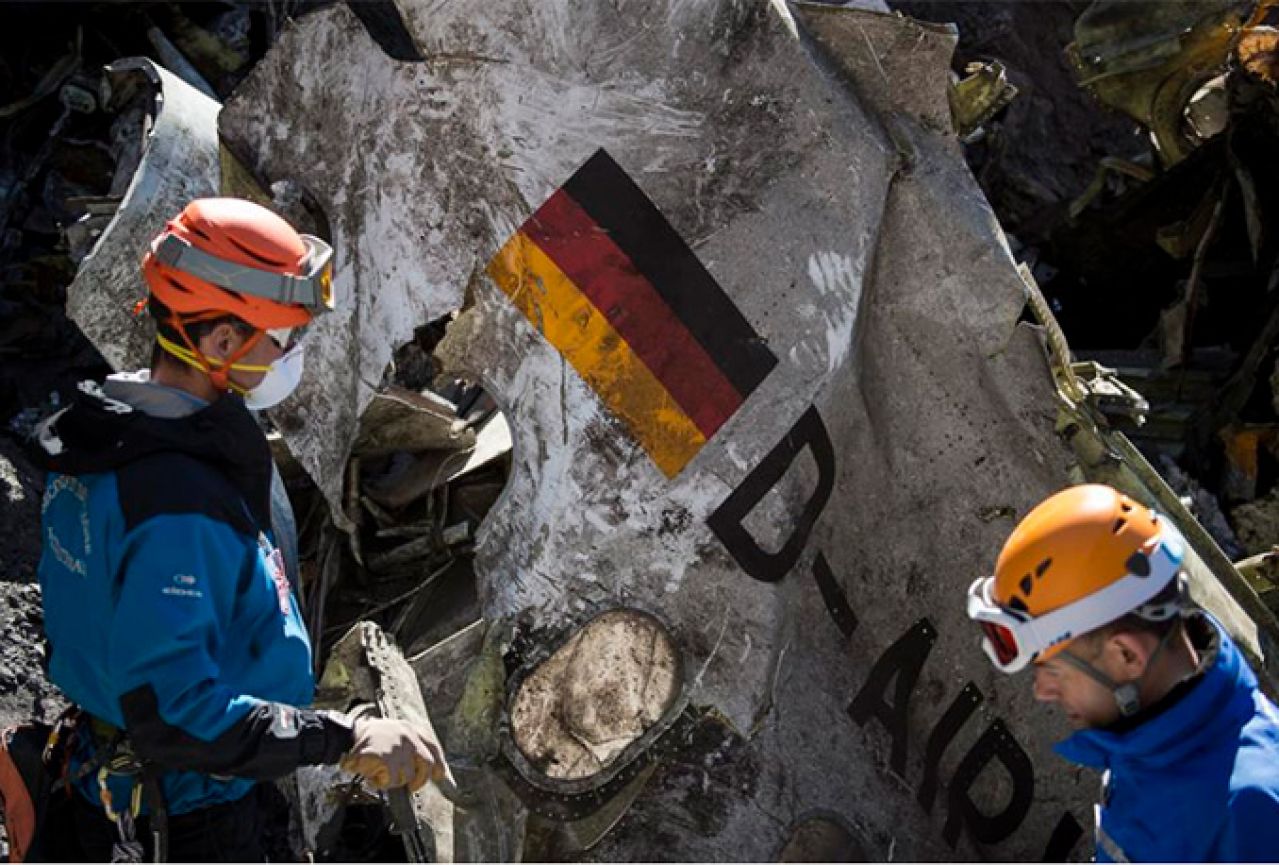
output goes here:
{"type": "Polygon", "coordinates": [[[1206,644],[1201,678],[1136,727],[1056,746],[1109,772],[1100,862],[1279,861],[1279,713],[1220,624],[1188,624],[1206,644]]]}

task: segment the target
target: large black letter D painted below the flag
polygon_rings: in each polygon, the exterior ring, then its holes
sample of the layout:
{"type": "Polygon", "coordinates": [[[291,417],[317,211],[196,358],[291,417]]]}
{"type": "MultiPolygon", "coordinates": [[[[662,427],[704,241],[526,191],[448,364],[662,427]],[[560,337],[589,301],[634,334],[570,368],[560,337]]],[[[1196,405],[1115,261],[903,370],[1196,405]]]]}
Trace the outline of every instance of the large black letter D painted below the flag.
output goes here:
{"type": "Polygon", "coordinates": [[[826,425],[821,422],[817,408],[810,406],[785,438],[724,499],[707,523],[742,569],[756,580],[776,582],[787,576],[799,559],[804,544],[808,543],[808,535],[834,489],[835,448],[830,443],[830,434],[826,432],[826,425]],[[804,447],[812,450],[813,459],[817,461],[817,489],[804,504],[803,513],[799,514],[787,543],[776,553],[767,553],[755,543],[742,523],[769,490],[776,486],[804,447]]]}

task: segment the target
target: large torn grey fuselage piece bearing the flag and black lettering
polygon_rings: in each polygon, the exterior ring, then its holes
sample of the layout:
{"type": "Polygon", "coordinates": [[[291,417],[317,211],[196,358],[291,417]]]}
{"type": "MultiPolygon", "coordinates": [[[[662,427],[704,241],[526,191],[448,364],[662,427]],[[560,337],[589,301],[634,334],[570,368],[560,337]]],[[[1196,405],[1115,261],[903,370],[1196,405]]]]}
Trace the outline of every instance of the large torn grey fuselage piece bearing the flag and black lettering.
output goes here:
{"type": "MultiPolygon", "coordinates": [[[[384,384],[393,352],[449,321],[432,361],[509,427],[481,617],[408,659],[357,626],[321,682],[434,719],[457,784],[390,804],[408,855],[1087,857],[1097,779],[963,604],[1085,479],[1183,525],[1195,594],[1275,671],[1273,614],[1099,411],[1140,397],[1071,363],[966,168],[953,28],[780,0],[379,9],[303,17],[220,114],[113,68],[151,132],[69,310],[141,365],[142,238],[194,194],[293,202],[340,305],[271,421],[350,537],[370,418],[430,413],[384,384]]],[[[299,777],[321,851],[344,784],[299,777]]]]}

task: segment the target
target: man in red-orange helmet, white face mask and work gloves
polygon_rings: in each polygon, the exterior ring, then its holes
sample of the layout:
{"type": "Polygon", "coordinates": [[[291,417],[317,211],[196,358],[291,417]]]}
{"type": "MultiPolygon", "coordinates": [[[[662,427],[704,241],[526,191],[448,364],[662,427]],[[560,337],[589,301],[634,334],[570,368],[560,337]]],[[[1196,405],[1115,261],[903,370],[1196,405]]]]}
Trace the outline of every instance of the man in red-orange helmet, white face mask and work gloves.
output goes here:
{"type": "Polygon", "coordinates": [[[312,647],[249,409],[297,386],[330,257],[258,205],[192,202],[142,262],[151,369],[83,384],[41,427],[49,673],[82,710],[55,859],[262,861],[260,781],[443,775],[423,731],[307,708],[312,647]]]}

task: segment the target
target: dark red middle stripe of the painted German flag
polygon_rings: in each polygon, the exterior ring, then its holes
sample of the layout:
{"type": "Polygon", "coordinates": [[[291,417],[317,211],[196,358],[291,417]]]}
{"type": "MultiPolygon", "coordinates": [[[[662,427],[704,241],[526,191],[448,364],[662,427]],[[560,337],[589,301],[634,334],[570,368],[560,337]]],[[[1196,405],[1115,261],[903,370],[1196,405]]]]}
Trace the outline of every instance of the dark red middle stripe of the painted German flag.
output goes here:
{"type": "Polygon", "coordinates": [[[742,395],[629,257],[563,189],[521,230],[604,315],[707,439],[742,395]]]}

